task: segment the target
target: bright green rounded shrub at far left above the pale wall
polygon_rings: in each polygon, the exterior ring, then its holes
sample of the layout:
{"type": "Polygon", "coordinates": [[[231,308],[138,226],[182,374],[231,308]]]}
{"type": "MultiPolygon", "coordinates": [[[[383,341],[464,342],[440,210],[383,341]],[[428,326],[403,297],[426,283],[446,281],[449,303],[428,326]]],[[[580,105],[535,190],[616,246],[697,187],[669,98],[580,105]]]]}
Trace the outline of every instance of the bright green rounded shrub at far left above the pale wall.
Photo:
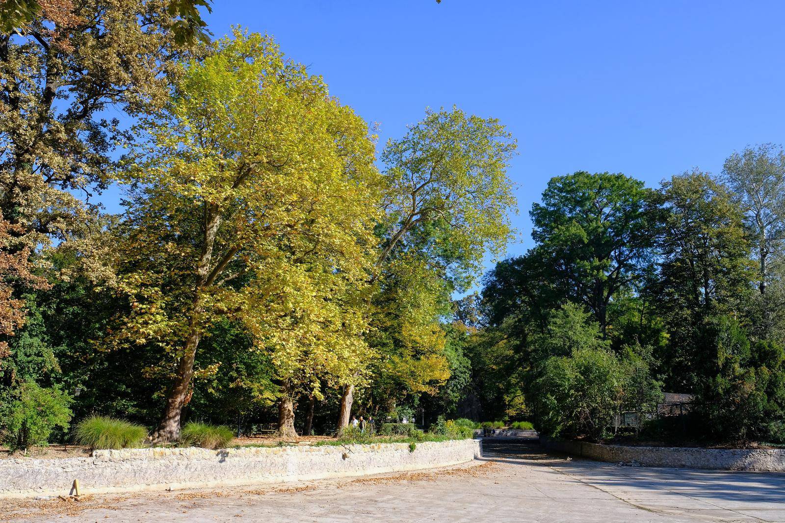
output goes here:
{"type": "Polygon", "coordinates": [[[71,397],[57,387],[44,389],[24,382],[19,390],[4,398],[0,422],[2,441],[9,450],[24,450],[45,445],[53,430],[68,430],[71,397]]]}

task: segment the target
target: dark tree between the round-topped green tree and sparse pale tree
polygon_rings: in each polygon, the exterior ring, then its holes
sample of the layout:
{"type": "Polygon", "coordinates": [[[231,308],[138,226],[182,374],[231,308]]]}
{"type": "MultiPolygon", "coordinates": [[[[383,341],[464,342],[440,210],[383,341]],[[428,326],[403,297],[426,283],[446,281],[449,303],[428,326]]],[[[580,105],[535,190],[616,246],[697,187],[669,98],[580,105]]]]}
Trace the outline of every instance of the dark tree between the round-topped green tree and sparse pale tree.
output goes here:
{"type": "Polygon", "coordinates": [[[707,320],[736,314],[750,296],[750,249],[743,214],[724,185],[693,171],[663,183],[665,230],[652,292],[669,333],[668,384],[692,390],[714,361],[707,320]]]}

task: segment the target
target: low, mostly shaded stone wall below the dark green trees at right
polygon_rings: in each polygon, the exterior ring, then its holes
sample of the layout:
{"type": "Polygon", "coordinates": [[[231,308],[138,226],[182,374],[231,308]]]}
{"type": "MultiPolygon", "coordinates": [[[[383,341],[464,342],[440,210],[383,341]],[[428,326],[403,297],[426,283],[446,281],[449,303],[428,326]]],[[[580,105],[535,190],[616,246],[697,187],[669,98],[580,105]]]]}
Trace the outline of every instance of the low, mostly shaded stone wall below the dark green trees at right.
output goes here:
{"type": "Polygon", "coordinates": [[[543,446],[565,454],[611,463],[638,463],[710,470],[765,470],[785,472],[785,449],[724,449],[687,447],[626,447],[586,441],[540,438],[543,446]]]}

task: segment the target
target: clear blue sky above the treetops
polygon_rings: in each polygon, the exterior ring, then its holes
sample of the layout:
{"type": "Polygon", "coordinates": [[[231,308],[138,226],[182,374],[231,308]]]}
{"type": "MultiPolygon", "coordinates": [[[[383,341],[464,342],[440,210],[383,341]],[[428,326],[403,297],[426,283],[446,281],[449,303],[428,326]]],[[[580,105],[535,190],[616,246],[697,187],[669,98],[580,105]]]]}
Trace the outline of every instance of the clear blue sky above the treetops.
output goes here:
{"type": "Polygon", "coordinates": [[[379,123],[380,144],[425,107],[501,119],[520,152],[511,255],[531,245],[528,210],[550,177],[656,185],[785,133],[782,2],[216,0],[206,20],[216,37],[232,24],[274,36],[379,123]]]}

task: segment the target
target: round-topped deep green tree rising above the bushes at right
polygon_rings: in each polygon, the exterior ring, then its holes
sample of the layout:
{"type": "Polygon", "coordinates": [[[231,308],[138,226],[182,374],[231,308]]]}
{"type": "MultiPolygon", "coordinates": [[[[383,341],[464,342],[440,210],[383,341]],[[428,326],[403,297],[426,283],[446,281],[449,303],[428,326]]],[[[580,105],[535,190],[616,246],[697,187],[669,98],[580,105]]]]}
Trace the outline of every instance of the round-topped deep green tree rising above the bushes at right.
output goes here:
{"type": "Polygon", "coordinates": [[[542,203],[531,208],[532,237],[557,288],[592,311],[603,335],[608,304],[639,283],[651,261],[657,218],[651,194],[624,174],[579,171],[552,178],[542,203]]]}

